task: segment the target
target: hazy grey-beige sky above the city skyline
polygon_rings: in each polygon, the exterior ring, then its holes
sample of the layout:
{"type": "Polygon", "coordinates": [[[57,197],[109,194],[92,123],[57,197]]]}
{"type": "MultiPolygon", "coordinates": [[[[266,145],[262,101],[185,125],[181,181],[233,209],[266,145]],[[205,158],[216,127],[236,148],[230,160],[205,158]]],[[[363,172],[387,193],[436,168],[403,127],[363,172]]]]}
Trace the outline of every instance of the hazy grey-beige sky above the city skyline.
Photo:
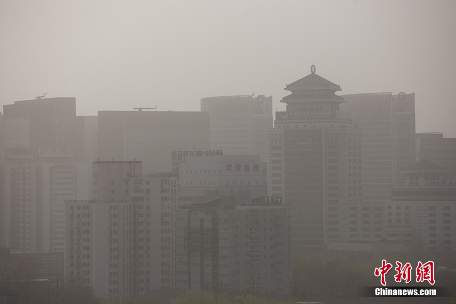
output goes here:
{"type": "Polygon", "coordinates": [[[415,92],[417,132],[456,137],[456,1],[0,0],[0,103],[78,115],[273,95],[310,72],[338,94],[415,92]]]}

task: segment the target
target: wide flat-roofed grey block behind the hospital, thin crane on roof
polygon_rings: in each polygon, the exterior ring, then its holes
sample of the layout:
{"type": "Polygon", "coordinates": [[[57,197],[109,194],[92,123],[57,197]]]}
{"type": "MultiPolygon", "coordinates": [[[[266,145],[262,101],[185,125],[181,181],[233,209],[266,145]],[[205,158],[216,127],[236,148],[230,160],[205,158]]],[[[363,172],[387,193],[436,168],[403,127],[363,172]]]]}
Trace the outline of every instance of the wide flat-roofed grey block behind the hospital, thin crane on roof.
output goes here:
{"type": "Polygon", "coordinates": [[[204,112],[98,112],[100,160],[141,160],[143,171],[171,170],[172,151],[209,150],[204,112]]]}

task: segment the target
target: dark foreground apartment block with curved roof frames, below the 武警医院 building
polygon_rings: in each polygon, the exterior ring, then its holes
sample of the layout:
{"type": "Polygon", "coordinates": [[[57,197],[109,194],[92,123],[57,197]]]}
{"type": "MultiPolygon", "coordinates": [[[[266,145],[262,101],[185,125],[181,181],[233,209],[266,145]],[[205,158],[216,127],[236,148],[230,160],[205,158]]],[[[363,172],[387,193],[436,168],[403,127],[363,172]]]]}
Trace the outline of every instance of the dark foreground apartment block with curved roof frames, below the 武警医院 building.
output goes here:
{"type": "Polygon", "coordinates": [[[292,294],[289,222],[277,197],[246,204],[217,197],[179,208],[176,290],[292,294]]]}

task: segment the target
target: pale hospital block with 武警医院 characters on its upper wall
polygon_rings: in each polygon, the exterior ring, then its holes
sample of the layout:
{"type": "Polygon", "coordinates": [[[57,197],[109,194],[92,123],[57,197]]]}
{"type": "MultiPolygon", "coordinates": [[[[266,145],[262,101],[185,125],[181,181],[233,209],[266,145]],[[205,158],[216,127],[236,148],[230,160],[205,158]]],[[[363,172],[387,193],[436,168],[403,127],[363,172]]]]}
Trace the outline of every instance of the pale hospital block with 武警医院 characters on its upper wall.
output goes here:
{"type": "Polygon", "coordinates": [[[189,156],[179,164],[179,196],[266,196],[266,167],[259,156],[189,156]]]}

